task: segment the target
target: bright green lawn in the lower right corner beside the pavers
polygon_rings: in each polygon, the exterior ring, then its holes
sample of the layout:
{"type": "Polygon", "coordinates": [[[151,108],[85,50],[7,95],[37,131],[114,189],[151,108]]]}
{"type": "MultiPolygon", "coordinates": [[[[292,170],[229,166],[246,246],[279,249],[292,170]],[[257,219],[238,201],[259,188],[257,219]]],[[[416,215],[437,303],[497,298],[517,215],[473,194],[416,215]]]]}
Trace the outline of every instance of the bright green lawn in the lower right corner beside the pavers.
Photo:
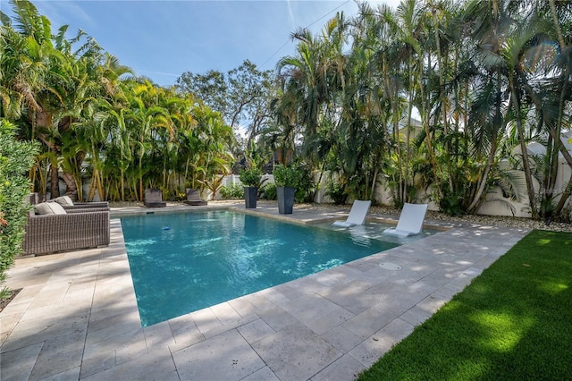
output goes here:
{"type": "Polygon", "coordinates": [[[358,379],[572,379],[572,233],[529,233],[358,379]]]}

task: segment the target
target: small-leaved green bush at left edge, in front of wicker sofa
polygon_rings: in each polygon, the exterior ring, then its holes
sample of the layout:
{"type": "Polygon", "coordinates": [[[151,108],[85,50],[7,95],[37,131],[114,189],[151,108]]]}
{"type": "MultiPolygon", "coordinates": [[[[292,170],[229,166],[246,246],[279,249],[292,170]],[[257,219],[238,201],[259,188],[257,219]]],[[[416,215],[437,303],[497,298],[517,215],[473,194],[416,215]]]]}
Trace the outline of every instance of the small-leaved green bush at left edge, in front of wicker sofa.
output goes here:
{"type": "MultiPolygon", "coordinates": [[[[0,119],[0,284],[4,284],[5,272],[13,265],[13,258],[21,253],[24,238],[26,211],[24,197],[29,194],[29,179],[26,174],[38,146],[15,139],[12,123],[0,119]]],[[[0,299],[10,291],[4,287],[0,299]]]]}

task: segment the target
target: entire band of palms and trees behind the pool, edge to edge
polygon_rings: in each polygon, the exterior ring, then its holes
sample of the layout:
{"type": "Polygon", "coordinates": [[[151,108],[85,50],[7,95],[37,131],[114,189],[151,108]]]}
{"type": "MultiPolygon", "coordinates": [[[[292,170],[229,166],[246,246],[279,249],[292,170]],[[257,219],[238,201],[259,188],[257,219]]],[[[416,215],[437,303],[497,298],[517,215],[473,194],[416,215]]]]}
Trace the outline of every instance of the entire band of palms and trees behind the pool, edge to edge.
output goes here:
{"type": "Polygon", "coordinates": [[[476,213],[500,188],[513,213],[509,200],[569,218],[570,2],[359,4],[318,35],[295,30],[274,73],[247,60],[172,88],[82,31],[52,30],[28,1],[12,5],[14,20],[0,14],[0,116],[40,143],[29,173],[40,193],[62,181],[79,199],[140,200],[149,186],[167,198],[217,191],[240,168],[304,163],[304,178],[332,174],[337,201],[476,213]]]}

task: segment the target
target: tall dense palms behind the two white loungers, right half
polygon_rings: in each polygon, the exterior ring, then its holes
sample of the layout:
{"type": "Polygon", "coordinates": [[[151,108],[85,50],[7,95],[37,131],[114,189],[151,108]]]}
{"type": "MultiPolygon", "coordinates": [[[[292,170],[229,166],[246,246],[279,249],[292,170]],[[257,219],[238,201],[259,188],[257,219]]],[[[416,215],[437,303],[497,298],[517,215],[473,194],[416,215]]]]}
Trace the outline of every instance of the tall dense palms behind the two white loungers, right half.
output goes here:
{"type": "Polygon", "coordinates": [[[556,189],[556,176],[559,155],[572,168],[561,135],[571,33],[569,2],[360,4],[320,35],[292,34],[272,104],[282,145],[338,173],[356,199],[374,199],[382,181],[397,206],[425,198],[475,213],[500,186],[526,196],[534,218],[566,217],[572,178],[556,189]],[[533,141],[542,156],[529,155],[533,141]]]}

